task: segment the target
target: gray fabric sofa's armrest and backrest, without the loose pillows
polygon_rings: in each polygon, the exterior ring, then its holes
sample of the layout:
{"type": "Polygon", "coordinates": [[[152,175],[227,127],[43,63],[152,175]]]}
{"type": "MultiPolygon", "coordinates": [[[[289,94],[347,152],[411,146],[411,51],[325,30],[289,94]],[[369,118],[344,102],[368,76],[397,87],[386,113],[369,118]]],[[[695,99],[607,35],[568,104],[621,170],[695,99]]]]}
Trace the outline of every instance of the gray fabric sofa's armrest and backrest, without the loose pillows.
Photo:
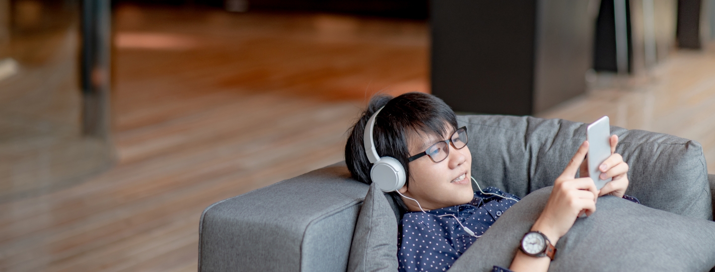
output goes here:
{"type": "MultiPolygon", "coordinates": [[[[458,121],[468,127],[473,176],[521,197],[551,186],[586,138],[586,124],[561,119],[458,121]]],[[[651,208],[712,220],[715,175],[699,143],[615,126],[611,133],[631,166],[627,194],[651,208]]],[[[199,223],[199,271],[345,271],[368,187],[340,162],[214,203],[199,223]]]]}

